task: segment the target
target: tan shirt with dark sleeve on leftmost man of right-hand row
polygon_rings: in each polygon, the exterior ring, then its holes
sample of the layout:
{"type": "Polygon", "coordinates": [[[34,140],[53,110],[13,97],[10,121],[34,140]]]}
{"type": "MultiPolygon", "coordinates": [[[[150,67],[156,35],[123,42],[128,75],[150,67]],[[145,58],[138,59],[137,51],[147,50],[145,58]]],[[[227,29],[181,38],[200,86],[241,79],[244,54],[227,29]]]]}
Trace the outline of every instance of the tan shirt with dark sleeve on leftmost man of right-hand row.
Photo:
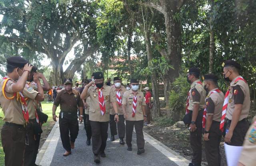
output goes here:
{"type": "Polygon", "coordinates": [[[189,93],[189,106],[188,110],[193,111],[194,109],[194,104],[199,104],[199,109],[204,108],[204,100],[206,96],[206,91],[204,90],[203,85],[200,85],[199,82],[200,80],[196,80],[191,84],[190,87],[190,93],[189,93]]]}

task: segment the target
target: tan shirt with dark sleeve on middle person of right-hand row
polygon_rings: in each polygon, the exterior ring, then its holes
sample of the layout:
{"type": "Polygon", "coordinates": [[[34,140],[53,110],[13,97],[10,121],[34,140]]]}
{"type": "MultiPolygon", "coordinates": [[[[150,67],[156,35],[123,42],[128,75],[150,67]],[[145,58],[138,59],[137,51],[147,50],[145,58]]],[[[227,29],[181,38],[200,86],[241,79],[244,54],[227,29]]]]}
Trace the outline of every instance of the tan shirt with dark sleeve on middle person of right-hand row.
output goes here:
{"type": "Polygon", "coordinates": [[[217,90],[212,89],[205,99],[207,115],[213,115],[213,120],[220,122],[222,117],[222,107],[224,103],[224,94],[222,92],[212,93],[217,90]],[[211,94],[212,93],[212,94],[211,94]]]}

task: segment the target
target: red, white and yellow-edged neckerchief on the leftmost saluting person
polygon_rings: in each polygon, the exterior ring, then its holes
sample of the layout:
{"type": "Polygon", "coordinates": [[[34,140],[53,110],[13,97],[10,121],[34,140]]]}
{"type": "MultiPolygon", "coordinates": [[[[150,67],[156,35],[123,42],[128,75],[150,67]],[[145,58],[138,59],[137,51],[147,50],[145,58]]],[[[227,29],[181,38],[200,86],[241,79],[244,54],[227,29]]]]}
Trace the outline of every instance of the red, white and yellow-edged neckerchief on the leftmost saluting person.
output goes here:
{"type": "Polygon", "coordinates": [[[10,100],[14,99],[16,97],[16,100],[20,101],[23,117],[24,117],[26,123],[28,123],[29,115],[28,115],[28,107],[27,107],[27,104],[26,104],[25,97],[22,95],[21,92],[16,92],[16,93],[13,94],[12,97],[7,97],[6,94],[5,94],[4,89],[6,87],[6,83],[10,80],[10,78],[4,77],[3,79],[4,79],[4,83],[3,83],[3,86],[2,86],[2,93],[3,93],[4,97],[6,99],[10,99],[10,100]]]}

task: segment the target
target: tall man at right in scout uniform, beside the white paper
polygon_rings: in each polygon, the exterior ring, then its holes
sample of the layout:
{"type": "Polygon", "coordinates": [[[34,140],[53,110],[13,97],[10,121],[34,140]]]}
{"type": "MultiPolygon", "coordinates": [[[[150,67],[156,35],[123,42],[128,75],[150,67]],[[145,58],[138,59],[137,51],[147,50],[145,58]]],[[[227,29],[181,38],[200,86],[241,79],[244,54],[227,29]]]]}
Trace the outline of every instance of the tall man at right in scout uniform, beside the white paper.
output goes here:
{"type": "Polygon", "coordinates": [[[224,131],[226,129],[224,139],[226,144],[242,146],[249,128],[247,119],[250,110],[249,86],[240,75],[240,64],[236,61],[227,60],[223,63],[223,67],[224,79],[231,83],[225,95],[225,101],[227,99],[227,102],[224,102],[224,109],[222,109],[220,128],[224,131]],[[226,118],[225,126],[224,118],[226,118]]]}

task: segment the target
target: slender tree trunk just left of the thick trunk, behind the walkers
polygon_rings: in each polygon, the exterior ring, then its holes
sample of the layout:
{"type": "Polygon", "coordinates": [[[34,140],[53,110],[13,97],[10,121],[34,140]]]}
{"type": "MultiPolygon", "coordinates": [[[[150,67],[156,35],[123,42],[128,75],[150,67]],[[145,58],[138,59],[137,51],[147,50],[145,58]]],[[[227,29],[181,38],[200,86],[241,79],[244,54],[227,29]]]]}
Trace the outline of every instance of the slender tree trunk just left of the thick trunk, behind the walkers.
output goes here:
{"type": "MultiPolygon", "coordinates": [[[[148,55],[148,63],[150,60],[153,59],[153,53],[151,49],[151,40],[149,37],[149,32],[146,32],[145,30],[145,43],[146,43],[146,50],[147,50],[147,55],[148,55]]],[[[156,76],[156,71],[152,71],[151,75],[151,83],[152,83],[152,95],[153,95],[153,115],[154,117],[159,117],[160,116],[160,101],[159,101],[159,87],[158,87],[158,82],[157,82],[157,76],[156,76]]]]}

